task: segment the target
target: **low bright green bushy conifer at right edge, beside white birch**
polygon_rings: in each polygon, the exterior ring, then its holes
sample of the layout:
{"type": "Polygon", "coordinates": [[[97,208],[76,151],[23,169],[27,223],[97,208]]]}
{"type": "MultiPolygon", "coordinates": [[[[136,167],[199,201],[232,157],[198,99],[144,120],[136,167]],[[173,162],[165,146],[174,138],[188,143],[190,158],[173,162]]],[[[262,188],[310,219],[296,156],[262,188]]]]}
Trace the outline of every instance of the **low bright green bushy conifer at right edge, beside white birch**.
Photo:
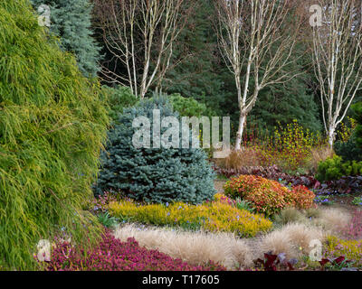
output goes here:
{"type": "Polygon", "coordinates": [[[362,162],[343,162],[342,157],[334,155],[318,166],[317,180],[320,182],[339,180],[343,176],[362,173],[362,162]]]}

